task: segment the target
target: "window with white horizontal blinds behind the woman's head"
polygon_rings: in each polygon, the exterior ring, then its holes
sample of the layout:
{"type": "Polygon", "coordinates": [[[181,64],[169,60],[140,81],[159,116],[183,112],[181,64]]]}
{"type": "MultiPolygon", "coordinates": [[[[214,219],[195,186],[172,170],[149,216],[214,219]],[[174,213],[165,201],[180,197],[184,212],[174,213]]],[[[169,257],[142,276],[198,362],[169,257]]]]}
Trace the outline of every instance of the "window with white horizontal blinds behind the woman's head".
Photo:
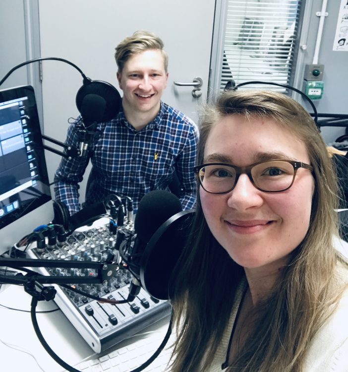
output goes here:
{"type": "MultiPolygon", "coordinates": [[[[223,1],[224,2],[224,1],[223,1]]],[[[226,27],[216,53],[219,75],[214,85],[224,89],[233,80],[291,84],[301,0],[226,0],[226,27]],[[221,67],[222,66],[222,67],[221,67]],[[219,77],[218,77],[219,76],[219,77]]],[[[213,49],[214,50],[214,49],[213,49]]],[[[266,87],[260,84],[260,87],[266,87]]],[[[255,85],[247,87],[255,88],[255,85]]],[[[267,85],[267,89],[282,89],[267,85]]]]}

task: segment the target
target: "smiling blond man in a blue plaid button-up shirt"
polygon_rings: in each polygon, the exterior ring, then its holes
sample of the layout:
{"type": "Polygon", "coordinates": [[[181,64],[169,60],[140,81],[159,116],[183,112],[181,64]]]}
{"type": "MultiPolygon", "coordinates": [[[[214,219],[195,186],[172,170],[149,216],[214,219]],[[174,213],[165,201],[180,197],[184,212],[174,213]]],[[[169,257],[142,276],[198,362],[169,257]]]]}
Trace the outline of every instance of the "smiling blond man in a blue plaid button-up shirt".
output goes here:
{"type": "MultiPolygon", "coordinates": [[[[55,194],[70,215],[80,209],[78,183],[92,162],[83,206],[110,193],[128,196],[134,211],[147,192],[169,189],[177,175],[183,209],[195,204],[193,166],[198,129],[181,112],[161,101],[168,81],[168,56],[162,40],[137,31],[116,47],[117,80],[123,91],[122,109],[116,117],[97,125],[88,156],[62,159],[55,175],[55,194]]],[[[76,125],[68,129],[66,143],[78,147],[76,125]]]]}

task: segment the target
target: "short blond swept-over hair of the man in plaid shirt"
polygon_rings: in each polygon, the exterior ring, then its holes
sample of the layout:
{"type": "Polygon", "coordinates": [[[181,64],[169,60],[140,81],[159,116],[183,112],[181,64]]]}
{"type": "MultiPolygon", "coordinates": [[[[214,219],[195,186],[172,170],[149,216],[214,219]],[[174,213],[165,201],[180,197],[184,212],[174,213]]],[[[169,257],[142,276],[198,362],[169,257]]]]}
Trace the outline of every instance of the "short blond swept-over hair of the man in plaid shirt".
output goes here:
{"type": "Polygon", "coordinates": [[[115,60],[118,72],[122,72],[125,62],[133,55],[148,49],[157,49],[162,53],[165,71],[168,70],[168,54],[163,49],[163,41],[149,31],[135,31],[133,35],[127,36],[115,48],[115,60]]]}

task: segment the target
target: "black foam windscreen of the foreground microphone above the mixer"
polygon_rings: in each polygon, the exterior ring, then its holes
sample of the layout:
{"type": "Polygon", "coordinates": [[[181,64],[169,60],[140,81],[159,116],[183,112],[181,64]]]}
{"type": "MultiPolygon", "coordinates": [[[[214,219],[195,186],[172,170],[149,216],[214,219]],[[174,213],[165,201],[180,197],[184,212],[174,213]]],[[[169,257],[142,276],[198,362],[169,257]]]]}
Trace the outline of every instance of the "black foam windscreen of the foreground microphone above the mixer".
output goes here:
{"type": "Polygon", "coordinates": [[[140,200],[134,220],[137,238],[148,243],[156,230],[182,206],[176,195],[165,190],[154,190],[145,194],[140,200]]]}

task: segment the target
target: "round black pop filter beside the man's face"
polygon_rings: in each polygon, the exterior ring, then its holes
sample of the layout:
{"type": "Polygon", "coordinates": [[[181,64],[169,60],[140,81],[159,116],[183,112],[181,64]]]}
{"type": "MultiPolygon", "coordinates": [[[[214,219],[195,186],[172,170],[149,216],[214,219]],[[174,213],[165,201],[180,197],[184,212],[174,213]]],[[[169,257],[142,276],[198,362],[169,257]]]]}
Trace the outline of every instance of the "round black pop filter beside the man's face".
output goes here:
{"type": "Polygon", "coordinates": [[[80,113],[84,111],[83,102],[87,95],[100,97],[100,102],[104,105],[101,122],[115,118],[121,109],[121,96],[117,89],[106,81],[84,79],[83,85],[76,94],[76,106],[80,113]]]}

